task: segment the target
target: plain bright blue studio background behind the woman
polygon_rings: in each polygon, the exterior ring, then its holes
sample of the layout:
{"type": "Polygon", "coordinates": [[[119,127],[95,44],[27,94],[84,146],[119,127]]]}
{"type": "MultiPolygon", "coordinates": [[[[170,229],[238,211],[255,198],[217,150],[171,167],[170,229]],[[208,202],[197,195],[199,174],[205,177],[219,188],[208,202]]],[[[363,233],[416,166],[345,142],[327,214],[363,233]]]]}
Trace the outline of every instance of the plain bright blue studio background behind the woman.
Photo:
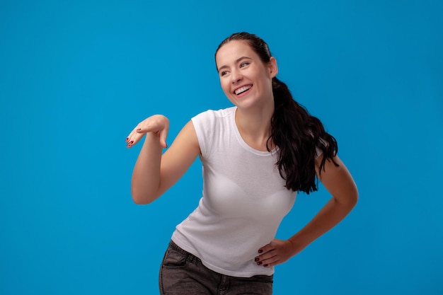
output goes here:
{"type": "MultiPolygon", "coordinates": [[[[214,51],[263,37],[359,187],[333,230],[276,267],[275,294],[443,294],[440,1],[0,2],[0,294],[158,294],[201,168],[132,203],[130,130],[230,106],[214,51]]],[[[328,199],[300,194],[278,238],[328,199]]]]}

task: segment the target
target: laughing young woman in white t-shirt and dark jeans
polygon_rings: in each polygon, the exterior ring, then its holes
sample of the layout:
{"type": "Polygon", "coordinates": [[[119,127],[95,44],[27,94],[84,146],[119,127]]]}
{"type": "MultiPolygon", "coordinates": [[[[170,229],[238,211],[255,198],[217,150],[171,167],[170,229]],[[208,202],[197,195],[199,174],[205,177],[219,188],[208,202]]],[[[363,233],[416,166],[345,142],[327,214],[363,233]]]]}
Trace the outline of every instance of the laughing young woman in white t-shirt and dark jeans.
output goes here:
{"type": "Polygon", "coordinates": [[[276,78],[277,62],[260,37],[229,36],[215,60],[234,107],[193,117],[164,154],[168,119],[154,115],[140,122],[126,139],[131,147],[146,135],[132,198],[154,201],[199,156],[203,197],[172,235],[161,294],[272,294],[274,266],[338,224],[355,206],[357,187],[335,139],[276,78]],[[276,239],[297,192],[317,190],[316,179],[330,201],[294,236],[276,239]]]}

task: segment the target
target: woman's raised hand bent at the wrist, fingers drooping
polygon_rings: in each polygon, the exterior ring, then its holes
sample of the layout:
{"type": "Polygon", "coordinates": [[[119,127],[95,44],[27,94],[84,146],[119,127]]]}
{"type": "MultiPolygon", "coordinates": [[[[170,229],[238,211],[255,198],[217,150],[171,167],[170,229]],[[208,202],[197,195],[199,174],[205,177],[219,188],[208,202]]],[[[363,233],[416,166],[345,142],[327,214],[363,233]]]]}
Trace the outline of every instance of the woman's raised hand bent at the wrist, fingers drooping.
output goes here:
{"type": "Polygon", "coordinates": [[[152,132],[159,137],[160,145],[163,146],[163,148],[166,148],[168,147],[168,144],[166,144],[168,130],[168,118],[163,115],[153,115],[146,118],[142,122],[139,122],[139,124],[132,130],[132,132],[127,136],[126,146],[128,148],[134,146],[134,144],[137,144],[137,142],[144,137],[144,134],[152,132]]]}

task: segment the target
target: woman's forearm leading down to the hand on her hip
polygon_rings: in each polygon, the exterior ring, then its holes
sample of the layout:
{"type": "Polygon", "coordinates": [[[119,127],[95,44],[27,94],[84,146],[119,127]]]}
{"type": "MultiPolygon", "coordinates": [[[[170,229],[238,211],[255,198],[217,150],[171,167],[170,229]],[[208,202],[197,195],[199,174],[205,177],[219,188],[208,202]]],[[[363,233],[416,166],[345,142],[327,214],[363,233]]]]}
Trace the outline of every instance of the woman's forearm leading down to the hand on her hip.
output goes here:
{"type": "Polygon", "coordinates": [[[342,221],[355,206],[356,202],[357,198],[347,203],[340,203],[337,199],[331,198],[309,224],[306,224],[303,229],[289,238],[294,249],[293,255],[299,253],[307,245],[315,241],[316,238],[322,236],[323,233],[326,233],[342,221]]]}

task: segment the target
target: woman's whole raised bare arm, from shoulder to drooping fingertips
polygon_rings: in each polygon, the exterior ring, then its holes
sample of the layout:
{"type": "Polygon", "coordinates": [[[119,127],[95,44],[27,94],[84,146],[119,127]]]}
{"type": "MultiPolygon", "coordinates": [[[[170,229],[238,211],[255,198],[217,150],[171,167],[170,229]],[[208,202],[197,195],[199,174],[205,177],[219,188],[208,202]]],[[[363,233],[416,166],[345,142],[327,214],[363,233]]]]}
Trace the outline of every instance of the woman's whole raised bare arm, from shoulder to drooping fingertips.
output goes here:
{"type": "Polygon", "coordinates": [[[197,134],[190,121],[162,155],[168,128],[166,117],[154,115],[140,122],[127,137],[127,146],[131,147],[146,134],[132,173],[131,192],[136,204],[149,204],[163,195],[200,153],[197,134]]]}

